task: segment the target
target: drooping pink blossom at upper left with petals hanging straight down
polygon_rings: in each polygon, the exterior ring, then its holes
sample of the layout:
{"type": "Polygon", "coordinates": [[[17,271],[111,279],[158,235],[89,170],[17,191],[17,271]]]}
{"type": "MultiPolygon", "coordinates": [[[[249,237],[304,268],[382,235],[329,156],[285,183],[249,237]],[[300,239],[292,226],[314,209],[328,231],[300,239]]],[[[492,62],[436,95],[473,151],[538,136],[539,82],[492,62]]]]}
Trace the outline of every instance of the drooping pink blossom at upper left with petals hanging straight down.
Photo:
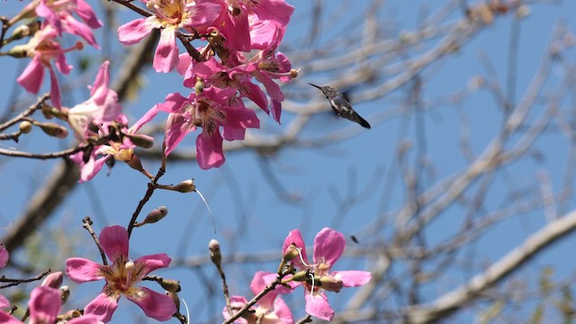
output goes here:
{"type": "Polygon", "coordinates": [[[22,75],[18,76],[16,81],[32,94],[38,94],[42,79],[44,78],[44,68],[48,69],[50,75],[50,99],[52,103],[60,108],[60,92],[58,90],[58,80],[51,65],[51,60],[56,59],[58,71],[67,75],[70,73],[72,66],[67,64],[64,53],[74,49],[82,49],[82,43],[76,43],[69,49],[62,49],[56,40],[58,31],[51,26],[45,25],[40,31],[36,31],[34,37],[24,45],[26,55],[32,60],[26,67],[22,75]]]}

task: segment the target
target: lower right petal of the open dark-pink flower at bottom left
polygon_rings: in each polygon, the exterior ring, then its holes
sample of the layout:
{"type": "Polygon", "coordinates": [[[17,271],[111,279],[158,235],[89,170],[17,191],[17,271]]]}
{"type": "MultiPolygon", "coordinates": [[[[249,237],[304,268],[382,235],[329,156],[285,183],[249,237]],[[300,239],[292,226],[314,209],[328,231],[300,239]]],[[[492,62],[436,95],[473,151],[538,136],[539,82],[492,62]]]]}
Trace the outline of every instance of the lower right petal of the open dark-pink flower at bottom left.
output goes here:
{"type": "Polygon", "coordinates": [[[126,298],[135,302],[146,316],[154,320],[170,320],[176,311],[172,298],[162,293],[156,293],[146,287],[139,287],[139,292],[127,294],[126,298]]]}

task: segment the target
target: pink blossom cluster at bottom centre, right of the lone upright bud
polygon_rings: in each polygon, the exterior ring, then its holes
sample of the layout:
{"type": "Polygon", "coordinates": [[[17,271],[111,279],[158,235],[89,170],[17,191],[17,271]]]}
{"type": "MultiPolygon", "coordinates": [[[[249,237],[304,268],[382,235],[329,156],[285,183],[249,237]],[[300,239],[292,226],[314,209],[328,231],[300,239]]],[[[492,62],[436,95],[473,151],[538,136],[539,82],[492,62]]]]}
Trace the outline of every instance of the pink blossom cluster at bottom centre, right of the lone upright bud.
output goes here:
{"type": "MultiPolygon", "coordinates": [[[[289,264],[291,274],[286,275],[282,282],[280,274],[257,272],[252,279],[250,289],[256,295],[265,291],[266,287],[274,287],[273,290],[260,298],[256,307],[242,314],[242,318],[235,322],[244,324],[292,324],[293,314],[280,298],[279,295],[293,293],[298,286],[304,288],[306,300],[306,313],[320,320],[332,320],[334,311],[330,307],[325,292],[339,293],[344,287],[357,287],[368,283],[372,278],[370,272],[351,270],[333,271],[332,266],[342,256],[346,247],[346,238],[342,233],[329,228],[324,228],[314,239],[313,263],[308,260],[306,246],[300,230],[294,229],[284,240],[284,256],[290,256],[289,264]]],[[[247,304],[247,299],[242,296],[230,297],[232,311],[238,311],[247,304]]],[[[225,319],[231,316],[229,310],[224,308],[222,315],[225,319]]]]}

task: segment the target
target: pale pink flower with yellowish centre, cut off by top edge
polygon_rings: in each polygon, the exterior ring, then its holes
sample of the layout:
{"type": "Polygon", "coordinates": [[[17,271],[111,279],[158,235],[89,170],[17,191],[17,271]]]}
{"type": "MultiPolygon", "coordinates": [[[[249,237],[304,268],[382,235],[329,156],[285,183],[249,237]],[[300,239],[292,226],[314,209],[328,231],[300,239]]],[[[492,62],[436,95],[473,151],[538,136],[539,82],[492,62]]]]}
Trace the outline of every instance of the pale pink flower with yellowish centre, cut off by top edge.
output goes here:
{"type": "Polygon", "coordinates": [[[175,38],[178,29],[207,27],[219,17],[221,10],[219,4],[208,1],[148,0],[146,6],[154,15],[121,25],[118,38],[122,44],[132,45],[153,29],[161,29],[153,63],[157,72],[170,72],[178,62],[175,38]]]}

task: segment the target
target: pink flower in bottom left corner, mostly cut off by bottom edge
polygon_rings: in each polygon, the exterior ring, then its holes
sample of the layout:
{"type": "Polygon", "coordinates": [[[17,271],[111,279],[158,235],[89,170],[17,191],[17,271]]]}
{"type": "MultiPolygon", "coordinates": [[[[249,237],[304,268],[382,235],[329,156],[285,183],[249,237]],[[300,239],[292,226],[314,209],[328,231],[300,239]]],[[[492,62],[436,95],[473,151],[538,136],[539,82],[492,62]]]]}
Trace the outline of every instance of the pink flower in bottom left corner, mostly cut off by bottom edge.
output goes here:
{"type": "MultiPolygon", "coordinates": [[[[30,320],[32,324],[53,324],[56,323],[58,311],[60,311],[60,292],[58,289],[49,286],[36,287],[30,294],[28,302],[30,320]]],[[[23,321],[16,320],[14,316],[4,311],[0,311],[0,322],[4,324],[22,324],[23,321]]],[[[94,317],[82,316],[74,320],[68,320],[69,324],[98,324],[94,317]]]]}

